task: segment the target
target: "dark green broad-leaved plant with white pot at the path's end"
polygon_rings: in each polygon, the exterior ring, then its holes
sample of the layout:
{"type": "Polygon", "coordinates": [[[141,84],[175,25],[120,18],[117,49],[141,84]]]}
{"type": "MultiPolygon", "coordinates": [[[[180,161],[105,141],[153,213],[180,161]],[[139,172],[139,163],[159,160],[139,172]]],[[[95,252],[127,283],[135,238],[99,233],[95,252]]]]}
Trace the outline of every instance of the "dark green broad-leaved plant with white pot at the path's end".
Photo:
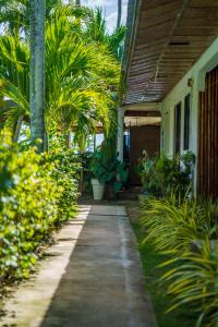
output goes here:
{"type": "Polygon", "coordinates": [[[98,201],[102,199],[105,185],[109,189],[109,198],[112,198],[113,194],[122,189],[129,177],[125,162],[118,160],[118,154],[108,158],[101,148],[98,148],[93,155],[90,171],[94,175],[90,180],[94,199],[98,201]]]}

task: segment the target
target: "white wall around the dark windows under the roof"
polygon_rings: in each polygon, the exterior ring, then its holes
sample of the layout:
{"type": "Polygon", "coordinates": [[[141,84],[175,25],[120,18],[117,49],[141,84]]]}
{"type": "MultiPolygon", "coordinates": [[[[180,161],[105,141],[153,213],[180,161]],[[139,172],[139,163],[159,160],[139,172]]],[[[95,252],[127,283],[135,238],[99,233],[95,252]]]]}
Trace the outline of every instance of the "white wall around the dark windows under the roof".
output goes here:
{"type": "Polygon", "coordinates": [[[181,149],[183,149],[183,131],[184,131],[184,98],[191,94],[191,135],[190,149],[197,156],[197,117],[198,117],[198,93],[204,90],[206,73],[218,64],[218,37],[211,46],[203,53],[198,61],[185,74],[185,76],[175,85],[167,95],[161,104],[162,114],[162,150],[173,154],[174,144],[174,107],[182,102],[182,121],[181,121],[181,149]],[[192,78],[193,86],[187,86],[189,78],[192,78]]]}

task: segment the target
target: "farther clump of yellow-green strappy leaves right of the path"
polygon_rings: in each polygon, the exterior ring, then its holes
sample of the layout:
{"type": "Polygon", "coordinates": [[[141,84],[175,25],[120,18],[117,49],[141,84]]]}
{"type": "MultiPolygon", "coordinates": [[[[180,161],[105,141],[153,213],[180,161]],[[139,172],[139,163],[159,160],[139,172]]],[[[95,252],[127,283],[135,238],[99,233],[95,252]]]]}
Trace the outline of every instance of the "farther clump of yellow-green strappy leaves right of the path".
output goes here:
{"type": "Polygon", "coordinates": [[[218,238],[218,205],[211,201],[141,197],[144,242],[157,251],[183,251],[197,240],[218,238]]]}

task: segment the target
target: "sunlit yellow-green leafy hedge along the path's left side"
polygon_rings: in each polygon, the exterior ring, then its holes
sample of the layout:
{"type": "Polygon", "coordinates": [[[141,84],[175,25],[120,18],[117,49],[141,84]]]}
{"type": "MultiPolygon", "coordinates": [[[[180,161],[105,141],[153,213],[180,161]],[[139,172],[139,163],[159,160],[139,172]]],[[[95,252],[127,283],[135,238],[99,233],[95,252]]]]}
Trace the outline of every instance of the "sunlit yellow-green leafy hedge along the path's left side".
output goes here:
{"type": "Polygon", "coordinates": [[[64,154],[39,156],[0,145],[0,276],[26,278],[37,250],[75,209],[74,164],[64,154]]]}

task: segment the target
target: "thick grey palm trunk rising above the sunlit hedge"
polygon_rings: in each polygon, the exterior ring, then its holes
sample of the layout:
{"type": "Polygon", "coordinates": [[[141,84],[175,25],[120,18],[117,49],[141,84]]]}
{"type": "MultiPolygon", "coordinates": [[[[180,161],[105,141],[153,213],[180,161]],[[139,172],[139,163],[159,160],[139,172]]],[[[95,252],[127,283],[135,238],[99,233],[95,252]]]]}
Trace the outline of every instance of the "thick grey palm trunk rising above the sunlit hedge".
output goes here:
{"type": "Polygon", "coordinates": [[[45,149],[45,17],[46,0],[31,0],[31,134],[45,149]]]}

